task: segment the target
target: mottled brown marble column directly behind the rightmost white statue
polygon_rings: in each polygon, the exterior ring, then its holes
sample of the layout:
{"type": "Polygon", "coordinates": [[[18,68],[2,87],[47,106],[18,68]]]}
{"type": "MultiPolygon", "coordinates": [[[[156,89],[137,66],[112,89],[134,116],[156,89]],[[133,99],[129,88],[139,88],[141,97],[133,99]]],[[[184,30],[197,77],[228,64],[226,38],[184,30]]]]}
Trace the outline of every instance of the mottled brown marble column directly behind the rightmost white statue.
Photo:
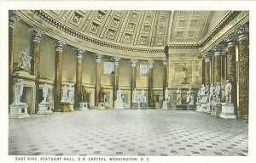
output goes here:
{"type": "Polygon", "coordinates": [[[227,53],[227,79],[232,84],[231,103],[234,104],[235,114],[237,113],[237,87],[236,87],[236,34],[232,33],[224,38],[224,42],[228,44],[227,53]]]}

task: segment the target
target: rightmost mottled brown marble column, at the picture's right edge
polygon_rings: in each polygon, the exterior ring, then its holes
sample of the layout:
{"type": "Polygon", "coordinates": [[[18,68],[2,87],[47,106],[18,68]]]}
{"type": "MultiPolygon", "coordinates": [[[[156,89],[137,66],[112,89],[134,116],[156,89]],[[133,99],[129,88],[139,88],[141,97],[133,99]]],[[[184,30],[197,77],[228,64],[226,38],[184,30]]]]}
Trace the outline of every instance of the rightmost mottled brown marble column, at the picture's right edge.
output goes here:
{"type": "Polygon", "coordinates": [[[239,109],[240,118],[248,118],[249,104],[249,25],[236,30],[239,55],[239,109]]]}

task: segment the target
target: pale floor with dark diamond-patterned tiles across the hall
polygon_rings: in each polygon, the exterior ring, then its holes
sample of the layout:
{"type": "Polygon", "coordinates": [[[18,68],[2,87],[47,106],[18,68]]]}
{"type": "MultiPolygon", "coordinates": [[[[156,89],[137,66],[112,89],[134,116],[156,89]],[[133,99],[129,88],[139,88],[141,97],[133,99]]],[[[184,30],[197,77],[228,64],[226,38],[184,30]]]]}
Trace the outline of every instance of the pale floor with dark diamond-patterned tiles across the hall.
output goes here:
{"type": "Polygon", "coordinates": [[[177,110],[90,110],[9,119],[9,155],[247,155],[248,125],[177,110]]]}

